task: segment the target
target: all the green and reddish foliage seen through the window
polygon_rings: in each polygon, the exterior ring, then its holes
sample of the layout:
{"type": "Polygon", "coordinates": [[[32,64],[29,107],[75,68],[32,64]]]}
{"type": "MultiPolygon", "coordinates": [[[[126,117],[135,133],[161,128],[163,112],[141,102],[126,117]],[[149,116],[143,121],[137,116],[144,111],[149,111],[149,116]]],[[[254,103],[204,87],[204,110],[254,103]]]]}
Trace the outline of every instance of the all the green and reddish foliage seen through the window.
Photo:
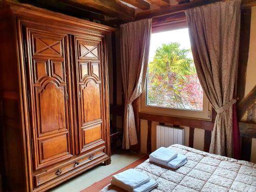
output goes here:
{"type": "Polygon", "coordinates": [[[148,66],[147,101],[150,105],[202,110],[203,90],[190,49],[178,42],[163,44],[148,66]]]}

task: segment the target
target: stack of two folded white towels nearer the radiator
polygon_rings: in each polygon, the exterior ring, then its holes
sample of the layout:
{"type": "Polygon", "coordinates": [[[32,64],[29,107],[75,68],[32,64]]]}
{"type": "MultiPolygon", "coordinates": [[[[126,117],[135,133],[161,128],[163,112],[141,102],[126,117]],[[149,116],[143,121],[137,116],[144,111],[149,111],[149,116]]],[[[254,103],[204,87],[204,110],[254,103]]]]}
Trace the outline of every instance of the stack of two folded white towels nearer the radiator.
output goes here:
{"type": "Polygon", "coordinates": [[[160,147],[150,154],[150,161],[172,169],[177,169],[187,162],[187,157],[182,154],[177,154],[169,148],[160,147]],[[167,161],[168,158],[170,159],[169,161],[167,161]]]}

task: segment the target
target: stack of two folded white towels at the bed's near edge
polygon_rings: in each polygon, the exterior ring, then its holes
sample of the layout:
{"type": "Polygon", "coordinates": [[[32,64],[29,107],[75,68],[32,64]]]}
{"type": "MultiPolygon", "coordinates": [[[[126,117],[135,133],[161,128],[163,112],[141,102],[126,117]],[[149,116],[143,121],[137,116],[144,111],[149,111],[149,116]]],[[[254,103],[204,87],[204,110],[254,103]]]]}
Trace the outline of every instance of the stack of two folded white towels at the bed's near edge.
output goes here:
{"type": "Polygon", "coordinates": [[[112,176],[111,184],[131,192],[148,192],[157,186],[155,180],[132,168],[112,176]]]}

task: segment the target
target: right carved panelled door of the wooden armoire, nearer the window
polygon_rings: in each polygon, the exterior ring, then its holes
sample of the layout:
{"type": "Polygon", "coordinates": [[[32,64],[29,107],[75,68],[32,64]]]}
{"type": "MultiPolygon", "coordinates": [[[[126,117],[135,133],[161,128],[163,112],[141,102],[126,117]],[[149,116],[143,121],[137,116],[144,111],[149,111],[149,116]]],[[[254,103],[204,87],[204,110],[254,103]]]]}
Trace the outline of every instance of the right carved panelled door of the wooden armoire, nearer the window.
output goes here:
{"type": "Polygon", "coordinates": [[[75,37],[76,75],[78,89],[80,153],[105,143],[104,141],[104,78],[102,42],[75,37]]]}

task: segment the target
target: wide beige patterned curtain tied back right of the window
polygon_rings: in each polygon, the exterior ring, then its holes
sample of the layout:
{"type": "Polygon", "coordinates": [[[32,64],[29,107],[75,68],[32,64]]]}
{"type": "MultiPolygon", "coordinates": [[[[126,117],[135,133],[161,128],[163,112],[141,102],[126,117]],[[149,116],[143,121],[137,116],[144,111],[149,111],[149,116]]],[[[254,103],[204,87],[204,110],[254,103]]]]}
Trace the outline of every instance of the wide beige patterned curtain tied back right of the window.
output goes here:
{"type": "Polygon", "coordinates": [[[217,112],[210,153],[232,157],[232,104],[238,66],[241,0],[186,10],[197,74],[217,112]]]}

